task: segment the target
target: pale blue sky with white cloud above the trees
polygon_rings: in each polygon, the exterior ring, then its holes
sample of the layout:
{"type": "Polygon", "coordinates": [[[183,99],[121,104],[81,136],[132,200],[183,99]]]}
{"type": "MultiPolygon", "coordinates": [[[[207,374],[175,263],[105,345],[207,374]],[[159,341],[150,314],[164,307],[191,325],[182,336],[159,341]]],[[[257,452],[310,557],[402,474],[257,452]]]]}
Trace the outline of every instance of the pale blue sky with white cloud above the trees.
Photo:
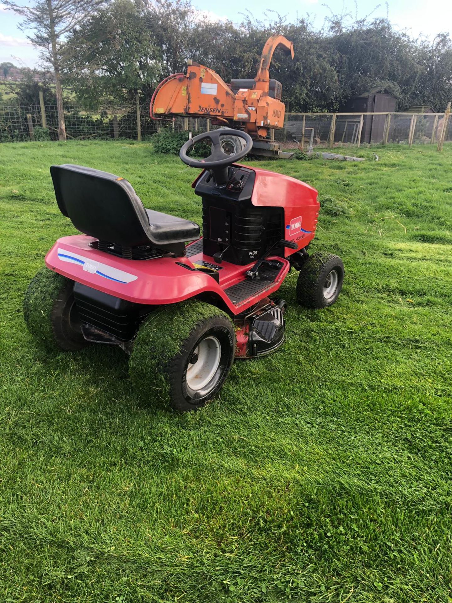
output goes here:
{"type": "MultiPolygon", "coordinates": [[[[228,0],[213,11],[212,0],[193,0],[193,5],[206,14],[207,18],[230,19],[240,22],[244,11],[249,11],[256,19],[265,19],[265,11],[277,10],[286,15],[290,21],[309,16],[315,27],[321,28],[325,17],[334,14],[351,13],[361,19],[369,14],[371,17],[386,17],[400,30],[406,30],[411,36],[419,34],[429,39],[445,31],[452,35],[452,2],[451,0],[388,0],[378,4],[374,0],[286,0],[284,4],[274,0],[228,0]],[[245,8],[243,8],[245,6],[245,8]]],[[[215,5],[216,8],[217,5],[215,5]]],[[[270,14],[270,13],[268,13],[270,14]]],[[[0,0],[0,63],[11,62],[14,65],[27,67],[39,66],[39,53],[28,42],[26,33],[17,27],[20,17],[12,11],[5,10],[0,0]]]]}

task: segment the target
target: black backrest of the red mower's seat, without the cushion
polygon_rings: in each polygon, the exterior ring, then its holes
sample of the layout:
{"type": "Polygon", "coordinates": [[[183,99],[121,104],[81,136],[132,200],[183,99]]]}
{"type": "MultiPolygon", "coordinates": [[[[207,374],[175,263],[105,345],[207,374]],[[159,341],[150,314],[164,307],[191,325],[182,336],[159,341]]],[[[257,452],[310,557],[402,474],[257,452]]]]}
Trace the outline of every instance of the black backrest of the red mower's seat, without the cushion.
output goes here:
{"type": "Polygon", "coordinates": [[[81,165],[50,168],[58,207],[77,230],[125,247],[149,244],[149,219],[124,178],[81,165]]]}

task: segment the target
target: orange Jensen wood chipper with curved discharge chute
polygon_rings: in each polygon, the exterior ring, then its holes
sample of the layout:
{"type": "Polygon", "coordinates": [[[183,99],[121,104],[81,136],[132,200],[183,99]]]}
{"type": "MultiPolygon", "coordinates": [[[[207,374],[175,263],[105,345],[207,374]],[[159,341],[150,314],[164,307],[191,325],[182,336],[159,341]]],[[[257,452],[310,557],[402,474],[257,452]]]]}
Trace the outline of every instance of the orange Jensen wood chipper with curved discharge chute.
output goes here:
{"type": "Polygon", "coordinates": [[[212,69],[187,62],[186,74],[169,75],[155,89],[151,118],[209,117],[213,125],[245,130],[253,137],[253,152],[281,155],[280,145],[265,140],[270,130],[284,126],[286,107],[281,102],[281,84],[269,76],[272,56],[278,47],[293,58],[292,42],[284,36],[271,36],[263,48],[256,78],[231,80],[230,84],[212,69]]]}

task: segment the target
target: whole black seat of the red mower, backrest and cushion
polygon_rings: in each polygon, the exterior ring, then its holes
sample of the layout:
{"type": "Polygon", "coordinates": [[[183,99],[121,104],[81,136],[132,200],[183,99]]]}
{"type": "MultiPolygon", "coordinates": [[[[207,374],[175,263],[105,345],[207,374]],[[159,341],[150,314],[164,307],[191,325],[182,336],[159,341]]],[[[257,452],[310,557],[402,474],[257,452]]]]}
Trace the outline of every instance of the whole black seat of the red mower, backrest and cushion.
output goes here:
{"type": "Polygon", "coordinates": [[[194,222],[145,209],[127,180],[81,165],[52,165],[61,213],[77,230],[99,241],[125,247],[151,245],[180,253],[181,244],[199,238],[194,222]]]}

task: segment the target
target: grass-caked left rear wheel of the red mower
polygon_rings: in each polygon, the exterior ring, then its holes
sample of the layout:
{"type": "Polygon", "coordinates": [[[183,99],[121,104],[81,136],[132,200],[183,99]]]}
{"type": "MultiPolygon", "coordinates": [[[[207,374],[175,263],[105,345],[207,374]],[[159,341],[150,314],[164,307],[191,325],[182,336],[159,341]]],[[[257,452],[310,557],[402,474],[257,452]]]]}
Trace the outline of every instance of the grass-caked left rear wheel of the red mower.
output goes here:
{"type": "Polygon", "coordinates": [[[86,346],[74,303],[74,282],[42,268],[28,285],[24,318],[28,330],[49,350],[74,352],[86,346]]]}

